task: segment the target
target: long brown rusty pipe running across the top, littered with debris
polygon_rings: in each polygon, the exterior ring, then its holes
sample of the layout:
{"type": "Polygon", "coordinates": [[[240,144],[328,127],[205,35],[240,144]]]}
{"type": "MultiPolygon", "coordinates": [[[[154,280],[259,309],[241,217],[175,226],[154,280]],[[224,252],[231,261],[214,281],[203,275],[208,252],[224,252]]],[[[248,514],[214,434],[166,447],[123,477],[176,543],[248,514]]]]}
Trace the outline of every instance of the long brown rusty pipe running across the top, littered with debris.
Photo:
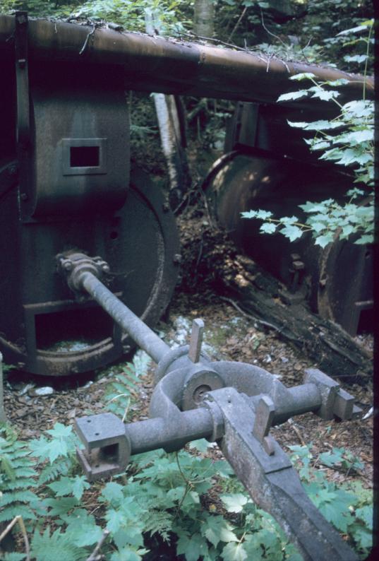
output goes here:
{"type": "MultiPolygon", "coordinates": [[[[14,28],[14,16],[0,16],[0,57],[7,52],[13,56],[14,28]]],[[[232,49],[49,20],[30,20],[29,54],[32,61],[123,65],[131,90],[266,103],[299,88],[289,81],[296,73],[312,72],[320,81],[346,78],[349,84],[341,89],[343,102],[361,98],[365,79],[327,66],[268,60],[232,49]]],[[[373,97],[373,91],[373,78],[366,78],[366,95],[373,97]]],[[[315,100],[286,105],[313,108],[315,100]]]]}

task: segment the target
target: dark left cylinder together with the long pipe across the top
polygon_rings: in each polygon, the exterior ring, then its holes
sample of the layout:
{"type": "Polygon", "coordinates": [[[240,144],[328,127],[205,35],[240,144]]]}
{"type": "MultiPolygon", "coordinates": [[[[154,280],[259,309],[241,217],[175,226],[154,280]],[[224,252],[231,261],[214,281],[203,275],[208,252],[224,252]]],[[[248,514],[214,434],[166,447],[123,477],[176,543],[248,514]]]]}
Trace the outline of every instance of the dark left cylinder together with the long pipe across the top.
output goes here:
{"type": "MultiPolygon", "coordinates": [[[[66,255],[69,270],[71,257],[97,255],[109,290],[150,325],[180,261],[168,206],[148,177],[129,170],[125,91],[273,108],[289,76],[310,67],[25,12],[0,16],[0,64],[0,349],[36,374],[93,370],[130,341],[93,299],[73,298],[56,256],[66,255]],[[62,348],[62,340],[76,343],[62,348]]],[[[342,98],[359,95],[361,76],[311,68],[320,79],[347,77],[342,98]]],[[[317,107],[291,102],[281,119],[317,107]]]]}

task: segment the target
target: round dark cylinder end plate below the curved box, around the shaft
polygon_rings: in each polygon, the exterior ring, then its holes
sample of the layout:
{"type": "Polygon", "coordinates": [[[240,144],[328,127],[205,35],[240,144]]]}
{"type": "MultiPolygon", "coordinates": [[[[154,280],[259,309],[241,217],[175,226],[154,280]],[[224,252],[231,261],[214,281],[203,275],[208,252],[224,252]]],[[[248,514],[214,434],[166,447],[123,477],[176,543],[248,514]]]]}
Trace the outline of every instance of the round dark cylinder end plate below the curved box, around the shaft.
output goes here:
{"type": "Polygon", "coordinates": [[[56,273],[55,256],[70,247],[102,254],[110,267],[109,288],[154,325],[169,303],[178,273],[176,226],[162,194],[143,172],[133,170],[126,203],[115,213],[21,223],[17,204],[16,189],[0,204],[1,268],[7,271],[0,347],[6,360],[28,372],[56,376],[112,362],[132,341],[113,332],[112,321],[93,300],[73,298],[56,273]],[[55,343],[65,338],[83,340],[85,348],[56,349],[55,343]]]}

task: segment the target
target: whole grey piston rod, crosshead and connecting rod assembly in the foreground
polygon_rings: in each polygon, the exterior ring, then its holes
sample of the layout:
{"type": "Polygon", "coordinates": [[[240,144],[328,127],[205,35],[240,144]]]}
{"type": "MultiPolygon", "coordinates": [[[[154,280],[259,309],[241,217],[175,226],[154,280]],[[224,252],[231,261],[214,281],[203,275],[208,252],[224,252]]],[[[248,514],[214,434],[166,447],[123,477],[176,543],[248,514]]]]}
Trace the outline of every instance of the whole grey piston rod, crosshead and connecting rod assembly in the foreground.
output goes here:
{"type": "Polygon", "coordinates": [[[203,321],[193,321],[189,346],[170,349],[102,283],[107,268],[83,254],[58,257],[61,276],[74,293],[86,293],[157,362],[150,419],[124,425],[113,413],[76,419],[85,449],[78,459],[90,480],[126,469],[130,456],[186,442],[217,442],[236,476],[270,512],[305,560],[357,557],[306,496],[272,425],[312,411],[323,419],[351,419],[354,398],[319,370],[287,388],[269,372],[243,362],[210,362],[201,351],[203,321]],[[66,265],[69,264],[67,267],[66,265]]]}

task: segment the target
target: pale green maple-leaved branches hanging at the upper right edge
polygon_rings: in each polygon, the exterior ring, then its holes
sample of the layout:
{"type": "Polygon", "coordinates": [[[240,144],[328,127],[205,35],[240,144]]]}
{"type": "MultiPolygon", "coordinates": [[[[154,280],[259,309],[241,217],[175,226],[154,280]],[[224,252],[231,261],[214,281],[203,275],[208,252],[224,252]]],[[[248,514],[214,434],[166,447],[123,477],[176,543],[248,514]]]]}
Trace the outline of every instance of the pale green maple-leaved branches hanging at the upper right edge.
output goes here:
{"type": "MultiPolygon", "coordinates": [[[[311,151],[321,152],[320,160],[327,160],[337,165],[342,165],[351,170],[351,182],[358,184],[353,189],[347,188],[347,201],[336,201],[334,198],[320,202],[307,201],[299,205],[305,219],[299,216],[275,217],[272,212],[265,210],[251,210],[241,213],[243,218],[256,218],[263,220],[260,232],[274,234],[279,232],[291,242],[297,240],[303,232],[311,232],[314,242],[320,247],[335,240],[336,237],[344,240],[354,236],[354,243],[370,244],[374,239],[374,105],[373,101],[366,99],[366,71],[371,46],[373,20],[364,21],[361,25],[341,32],[351,42],[366,41],[365,55],[359,55],[364,63],[364,79],[362,85],[362,99],[347,103],[340,103],[339,90],[348,81],[344,78],[334,81],[317,81],[311,72],[299,73],[291,76],[293,81],[311,81],[311,86],[284,93],[279,96],[279,102],[301,99],[304,97],[315,98],[325,102],[334,103],[339,114],[331,120],[322,119],[315,122],[288,122],[289,126],[314,131],[315,136],[306,140],[311,151]],[[368,37],[351,40],[351,35],[368,30],[368,37]]],[[[358,61],[358,59],[357,59],[358,61]]]]}

